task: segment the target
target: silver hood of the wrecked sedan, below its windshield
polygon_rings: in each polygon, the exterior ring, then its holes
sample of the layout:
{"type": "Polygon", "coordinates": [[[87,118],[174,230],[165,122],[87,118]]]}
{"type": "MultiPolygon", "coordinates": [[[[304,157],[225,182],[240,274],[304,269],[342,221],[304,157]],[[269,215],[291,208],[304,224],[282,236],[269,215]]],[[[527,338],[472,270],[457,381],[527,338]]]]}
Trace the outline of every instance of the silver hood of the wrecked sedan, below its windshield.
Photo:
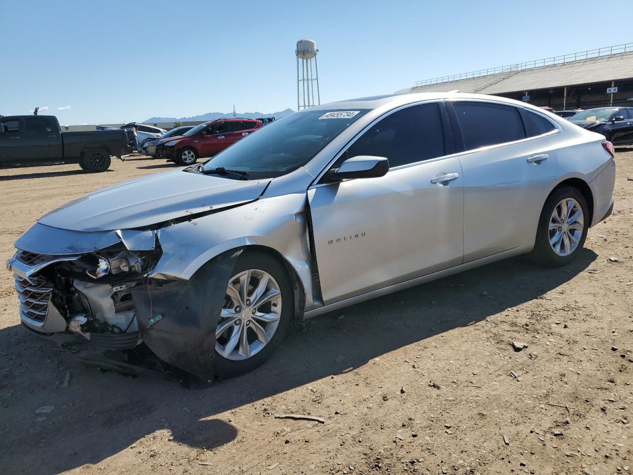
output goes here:
{"type": "Polygon", "coordinates": [[[73,231],[144,227],[248,203],[259,198],[269,182],[236,181],[179,169],[86,194],[44,215],[39,222],[73,231]]]}

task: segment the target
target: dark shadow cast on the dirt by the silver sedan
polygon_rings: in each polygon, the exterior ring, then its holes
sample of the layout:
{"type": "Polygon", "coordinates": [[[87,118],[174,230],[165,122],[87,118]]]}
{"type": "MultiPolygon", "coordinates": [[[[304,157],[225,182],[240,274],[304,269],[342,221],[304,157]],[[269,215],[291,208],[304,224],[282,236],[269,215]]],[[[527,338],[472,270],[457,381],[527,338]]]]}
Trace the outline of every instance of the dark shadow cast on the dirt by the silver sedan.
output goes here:
{"type": "Polygon", "coordinates": [[[239,423],[218,417],[223,412],[353,371],[385,353],[542,297],[584,272],[596,257],[583,250],[573,265],[561,269],[511,258],[317,317],[307,330],[293,326],[284,346],[260,369],[204,390],[99,372],[18,326],[4,329],[0,466],[7,473],[54,474],[131,450],[148,434],[160,440],[171,434],[174,443],[207,450],[221,447],[239,430],[239,423]],[[72,378],[63,388],[68,369],[72,378]],[[55,409],[35,415],[44,405],[55,409]]]}

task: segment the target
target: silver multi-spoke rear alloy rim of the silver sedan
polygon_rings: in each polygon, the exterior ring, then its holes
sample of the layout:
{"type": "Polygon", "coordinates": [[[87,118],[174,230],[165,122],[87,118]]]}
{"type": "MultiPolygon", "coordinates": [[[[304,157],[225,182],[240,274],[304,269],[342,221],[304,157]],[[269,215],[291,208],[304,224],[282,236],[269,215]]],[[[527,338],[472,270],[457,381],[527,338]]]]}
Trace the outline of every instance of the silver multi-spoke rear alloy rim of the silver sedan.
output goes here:
{"type": "Polygon", "coordinates": [[[549,219],[549,245],[561,257],[570,255],[578,247],[584,227],[584,214],[578,201],[563,198],[549,219]]]}

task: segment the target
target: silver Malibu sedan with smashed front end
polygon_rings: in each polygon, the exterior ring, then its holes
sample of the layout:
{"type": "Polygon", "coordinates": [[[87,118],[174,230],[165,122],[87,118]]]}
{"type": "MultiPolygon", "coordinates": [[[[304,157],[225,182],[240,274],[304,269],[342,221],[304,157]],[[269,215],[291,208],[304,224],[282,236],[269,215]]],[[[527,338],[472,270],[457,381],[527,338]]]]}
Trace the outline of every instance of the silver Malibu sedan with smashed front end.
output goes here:
{"type": "Polygon", "coordinates": [[[23,326],[86,362],[131,371],[103,352],[128,350],[154,370],[231,376],[293,318],[525,253],[570,263],[614,181],[605,137],[524,103],[353,99],[71,201],[18,239],[8,269],[23,326]]]}

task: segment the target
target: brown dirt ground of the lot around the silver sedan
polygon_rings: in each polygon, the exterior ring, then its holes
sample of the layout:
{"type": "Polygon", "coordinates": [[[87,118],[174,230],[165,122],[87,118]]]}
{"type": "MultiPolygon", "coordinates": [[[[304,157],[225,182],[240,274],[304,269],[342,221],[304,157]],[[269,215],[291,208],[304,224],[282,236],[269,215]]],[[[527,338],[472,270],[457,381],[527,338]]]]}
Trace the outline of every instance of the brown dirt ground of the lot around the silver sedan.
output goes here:
{"type": "MultiPolygon", "coordinates": [[[[27,334],[0,272],[0,472],[633,472],[633,149],[616,160],[615,211],[572,266],[513,258],[297,324],[258,371],[205,390],[27,334]]],[[[0,260],[42,213],[172,167],[0,170],[0,260]]]]}

